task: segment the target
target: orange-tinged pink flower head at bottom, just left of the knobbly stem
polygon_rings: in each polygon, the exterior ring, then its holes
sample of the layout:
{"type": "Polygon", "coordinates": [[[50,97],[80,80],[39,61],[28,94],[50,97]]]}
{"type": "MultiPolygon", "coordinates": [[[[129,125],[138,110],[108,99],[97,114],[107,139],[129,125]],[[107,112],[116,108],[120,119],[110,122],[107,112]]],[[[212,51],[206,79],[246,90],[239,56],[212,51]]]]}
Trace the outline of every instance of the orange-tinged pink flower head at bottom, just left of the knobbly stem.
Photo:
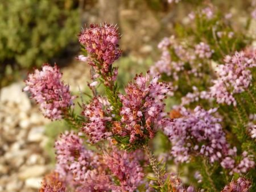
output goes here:
{"type": "Polygon", "coordinates": [[[144,174],[136,158],[136,152],[127,153],[114,149],[110,154],[105,154],[104,159],[120,182],[120,186],[113,186],[112,191],[133,192],[142,183],[144,174]]]}

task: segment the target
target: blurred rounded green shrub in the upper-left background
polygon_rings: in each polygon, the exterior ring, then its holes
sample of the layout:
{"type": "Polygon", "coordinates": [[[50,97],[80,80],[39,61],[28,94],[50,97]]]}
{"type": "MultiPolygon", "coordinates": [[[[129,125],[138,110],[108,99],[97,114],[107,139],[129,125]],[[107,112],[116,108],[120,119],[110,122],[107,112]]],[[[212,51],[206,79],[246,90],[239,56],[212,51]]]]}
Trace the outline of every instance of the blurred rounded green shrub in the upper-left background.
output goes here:
{"type": "Polygon", "coordinates": [[[12,71],[42,65],[79,32],[73,0],[0,0],[0,81],[12,71]]]}

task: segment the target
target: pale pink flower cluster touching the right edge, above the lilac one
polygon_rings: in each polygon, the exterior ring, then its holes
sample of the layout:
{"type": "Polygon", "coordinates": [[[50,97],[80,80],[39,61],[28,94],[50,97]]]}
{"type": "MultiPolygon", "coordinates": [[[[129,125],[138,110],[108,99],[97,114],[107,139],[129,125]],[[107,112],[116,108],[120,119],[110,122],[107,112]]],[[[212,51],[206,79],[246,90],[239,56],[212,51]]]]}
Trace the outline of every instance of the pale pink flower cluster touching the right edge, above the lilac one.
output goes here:
{"type": "Polygon", "coordinates": [[[217,67],[218,79],[210,87],[210,95],[218,103],[237,105],[234,94],[249,88],[253,78],[249,68],[256,66],[256,49],[249,48],[225,57],[225,64],[217,67]]]}

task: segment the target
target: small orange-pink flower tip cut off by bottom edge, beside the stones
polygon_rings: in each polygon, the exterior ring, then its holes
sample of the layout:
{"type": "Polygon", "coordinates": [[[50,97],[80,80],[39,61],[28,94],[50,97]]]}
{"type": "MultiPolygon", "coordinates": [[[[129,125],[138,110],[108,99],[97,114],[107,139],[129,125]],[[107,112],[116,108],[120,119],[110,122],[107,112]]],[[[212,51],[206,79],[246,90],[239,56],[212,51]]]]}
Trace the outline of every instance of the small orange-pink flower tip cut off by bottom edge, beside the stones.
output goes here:
{"type": "Polygon", "coordinates": [[[52,172],[43,178],[39,192],[64,192],[66,186],[59,178],[59,173],[52,172]]]}

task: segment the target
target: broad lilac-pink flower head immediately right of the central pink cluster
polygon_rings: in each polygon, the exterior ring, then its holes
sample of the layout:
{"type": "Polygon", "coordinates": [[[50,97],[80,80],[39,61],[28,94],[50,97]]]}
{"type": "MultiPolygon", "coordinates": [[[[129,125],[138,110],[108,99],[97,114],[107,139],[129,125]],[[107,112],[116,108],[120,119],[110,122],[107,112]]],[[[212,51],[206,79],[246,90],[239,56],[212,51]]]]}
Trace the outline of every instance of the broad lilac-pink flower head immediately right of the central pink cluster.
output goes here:
{"type": "Polygon", "coordinates": [[[206,111],[197,106],[191,112],[182,107],[180,118],[164,119],[163,130],[171,140],[171,155],[176,162],[188,162],[191,155],[201,155],[213,163],[228,152],[229,145],[219,123],[221,119],[212,115],[216,110],[206,111]]]}

